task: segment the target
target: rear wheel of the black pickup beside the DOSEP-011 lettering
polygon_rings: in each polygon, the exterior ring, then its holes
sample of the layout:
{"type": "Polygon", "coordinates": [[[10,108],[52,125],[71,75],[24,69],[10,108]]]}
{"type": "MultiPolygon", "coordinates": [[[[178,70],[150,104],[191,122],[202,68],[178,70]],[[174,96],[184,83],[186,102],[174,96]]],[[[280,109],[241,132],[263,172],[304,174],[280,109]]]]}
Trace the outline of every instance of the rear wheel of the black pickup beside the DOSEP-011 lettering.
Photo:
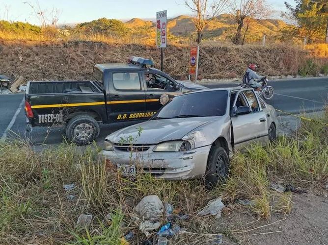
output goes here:
{"type": "Polygon", "coordinates": [[[79,115],[67,123],[66,137],[77,145],[85,145],[95,140],[99,131],[99,124],[93,117],[79,115]]]}

